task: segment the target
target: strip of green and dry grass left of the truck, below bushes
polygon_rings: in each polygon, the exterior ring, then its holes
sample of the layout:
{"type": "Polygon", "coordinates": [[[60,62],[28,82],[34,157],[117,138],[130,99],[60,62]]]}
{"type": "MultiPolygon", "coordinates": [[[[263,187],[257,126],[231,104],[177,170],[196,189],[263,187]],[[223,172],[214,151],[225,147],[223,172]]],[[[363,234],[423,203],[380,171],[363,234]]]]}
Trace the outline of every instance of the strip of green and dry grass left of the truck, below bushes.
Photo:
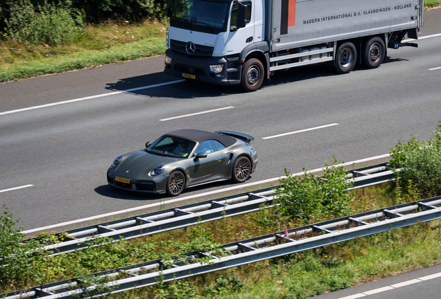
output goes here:
{"type": "Polygon", "coordinates": [[[103,64],[162,55],[166,24],[106,23],[87,26],[83,38],[68,46],[20,44],[7,33],[0,38],[0,82],[62,73],[103,64]]]}

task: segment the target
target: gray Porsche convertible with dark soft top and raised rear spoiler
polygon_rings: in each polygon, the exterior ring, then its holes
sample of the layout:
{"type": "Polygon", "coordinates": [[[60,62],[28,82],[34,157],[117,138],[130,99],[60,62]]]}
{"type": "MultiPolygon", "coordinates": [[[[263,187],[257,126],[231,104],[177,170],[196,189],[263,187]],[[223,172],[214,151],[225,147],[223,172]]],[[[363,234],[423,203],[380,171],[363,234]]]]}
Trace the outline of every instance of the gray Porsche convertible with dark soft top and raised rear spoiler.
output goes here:
{"type": "Polygon", "coordinates": [[[115,158],[107,170],[112,187],[177,196],[188,187],[231,179],[242,183],[257,169],[252,136],[180,129],[115,158]]]}

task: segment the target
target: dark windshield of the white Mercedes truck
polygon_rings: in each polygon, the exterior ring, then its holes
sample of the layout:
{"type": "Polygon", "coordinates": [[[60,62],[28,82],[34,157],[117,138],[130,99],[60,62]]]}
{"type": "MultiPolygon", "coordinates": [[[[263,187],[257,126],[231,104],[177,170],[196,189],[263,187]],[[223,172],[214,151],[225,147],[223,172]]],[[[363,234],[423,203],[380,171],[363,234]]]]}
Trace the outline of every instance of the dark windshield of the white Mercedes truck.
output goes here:
{"type": "Polygon", "coordinates": [[[230,1],[174,0],[170,25],[218,34],[225,31],[230,1]]]}

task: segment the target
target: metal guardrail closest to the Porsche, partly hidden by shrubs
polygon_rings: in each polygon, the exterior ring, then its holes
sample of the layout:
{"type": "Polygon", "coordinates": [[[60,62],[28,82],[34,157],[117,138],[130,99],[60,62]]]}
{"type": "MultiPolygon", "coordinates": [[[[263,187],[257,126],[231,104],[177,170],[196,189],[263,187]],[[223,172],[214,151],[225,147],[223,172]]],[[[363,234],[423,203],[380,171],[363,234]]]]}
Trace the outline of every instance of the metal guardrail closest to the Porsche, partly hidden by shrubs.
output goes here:
{"type": "MultiPolygon", "coordinates": [[[[349,170],[347,178],[354,181],[354,189],[370,185],[385,183],[394,180],[392,171],[386,169],[386,163],[372,165],[370,167],[349,170]]],[[[277,187],[281,187],[278,185],[277,187]]],[[[214,221],[225,217],[233,217],[260,209],[262,203],[266,206],[273,205],[275,187],[237,194],[232,197],[193,203],[179,208],[170,208],[159,212],[129,217],[110,221],[106,224],[97,224],[68,230],[55,234],[66,235],[69,241],[43,246],[42,250],[52,251],[49,256],[69,253],[80,248],[87,248],[87,240],[91,236],[107,237],[115,242],[120,239],[132,239],[136,237],[162,233],[167,230],[184,228],[195,224],[214,221]]]]}

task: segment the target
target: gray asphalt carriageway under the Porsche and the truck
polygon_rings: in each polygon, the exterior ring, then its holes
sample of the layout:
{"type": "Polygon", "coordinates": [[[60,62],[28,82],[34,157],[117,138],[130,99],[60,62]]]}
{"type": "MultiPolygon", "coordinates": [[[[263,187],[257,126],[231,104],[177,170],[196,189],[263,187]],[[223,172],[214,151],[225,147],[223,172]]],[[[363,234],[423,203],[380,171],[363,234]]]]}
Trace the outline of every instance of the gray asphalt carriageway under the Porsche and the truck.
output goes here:
{"type": "MultiPolygon", "coordinates": [[[[441,33],[441,10],[426,12],[424,25],[421,37],[441,33]]],[[[284,168],[323,167],[333,156],[348,162],[387,154],[400,138],[430,138],[441,120],[441,69],[434,69],[441,66],[441,36],[418,44],[388,51],[379,69],[279,72],[254,93],[187,82],[116,92],[176,81],[162,73],[163,56],[1,84],[0,201],[25,230],[166,203],[110,188],[105,172],[116,156],[180,128],[254,136],[259,169],[251,183],[284,168]],[[77,101],[38,107],[69,100],[77,101]],[[233,108],[164,121],[225,107],[233,108]],[[17,109],[25,110],[6,114],[17,109]],[[331,124],[338,125],[263,139],[331,124]],[[10,190],[24,185],[32,186],[10,190]]],[[[191,188],[180,198],[231,185],[191,188]]]]}

